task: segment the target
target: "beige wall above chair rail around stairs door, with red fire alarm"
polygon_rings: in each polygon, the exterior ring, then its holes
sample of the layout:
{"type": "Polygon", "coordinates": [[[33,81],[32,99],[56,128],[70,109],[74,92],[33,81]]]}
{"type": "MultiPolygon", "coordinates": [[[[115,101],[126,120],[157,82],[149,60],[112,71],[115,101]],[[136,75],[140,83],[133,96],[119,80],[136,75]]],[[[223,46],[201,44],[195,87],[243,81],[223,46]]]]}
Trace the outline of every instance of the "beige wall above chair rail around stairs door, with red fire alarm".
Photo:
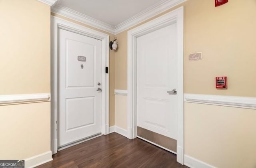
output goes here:
{"type": "MultiPolygon", "coordinates": [[[[188,0],[175,8],[180,6],[184,6],[185,14],[185,93],[255,97],[252,89],[256,85],[256,1],[232,0],[215,8],[210,0],[188,0]],[[203,59],[188,61],[188,54],[194,52],[202,52],[203,59]],[[228,77],[227,90],[215,89],[216,76],[228,77]],[[241,91],[242,84],[245,87],[241,91]]],[[[127,30],[116,37],[119,48],[115,56],[115,88],[127,89],[127,30]]]]}

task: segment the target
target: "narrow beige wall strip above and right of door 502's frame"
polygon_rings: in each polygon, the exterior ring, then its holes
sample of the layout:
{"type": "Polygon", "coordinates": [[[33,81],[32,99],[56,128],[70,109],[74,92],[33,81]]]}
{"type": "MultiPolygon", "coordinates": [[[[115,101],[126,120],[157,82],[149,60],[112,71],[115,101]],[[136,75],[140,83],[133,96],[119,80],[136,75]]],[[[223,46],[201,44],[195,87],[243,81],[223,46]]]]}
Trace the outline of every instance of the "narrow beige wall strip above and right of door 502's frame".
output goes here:
{"type": "MultiPolygon", "coordinates": [[[[52,16],[56,16],[58,18],[61,18],[63,20],[67,20],[69,22],[73,22],[75,24],[79,24],[81,26],[105,33],[109,35],[109,40],[114,40],[114,35],[110,34],[108,32],[104,32],[102,30],[99,30],[97,28],[94,28],[92,26],[83,24],[81,22],[78,22],[76,20],[72,20],[70,18],[66,18],[64,16],[61,16],[59,14],[51,13],[52,16]]],[[[115,89],[115,53],[114,50],[109,50],[109,126],[115,125],[115,95],[114,95],[114,89],[115,89]]]]}

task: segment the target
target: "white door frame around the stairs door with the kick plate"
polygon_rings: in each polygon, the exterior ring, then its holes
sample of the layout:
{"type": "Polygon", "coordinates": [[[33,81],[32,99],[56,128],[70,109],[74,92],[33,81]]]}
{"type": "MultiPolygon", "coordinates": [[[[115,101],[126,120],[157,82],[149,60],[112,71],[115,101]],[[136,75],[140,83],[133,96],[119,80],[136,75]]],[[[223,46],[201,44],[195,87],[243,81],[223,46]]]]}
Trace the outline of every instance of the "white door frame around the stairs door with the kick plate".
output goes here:
{"type": "Polygon", "coordinates": [[[150,22],[128,31],[128,97],[127,97],[127,138],[137,136],[137,38],[176,23],[177,30],[177,71],[178,71],[178,138],[177,162],[184,164],[184,83],[183,83],[183,34],[184,7],[177,8],[150,22]]]}

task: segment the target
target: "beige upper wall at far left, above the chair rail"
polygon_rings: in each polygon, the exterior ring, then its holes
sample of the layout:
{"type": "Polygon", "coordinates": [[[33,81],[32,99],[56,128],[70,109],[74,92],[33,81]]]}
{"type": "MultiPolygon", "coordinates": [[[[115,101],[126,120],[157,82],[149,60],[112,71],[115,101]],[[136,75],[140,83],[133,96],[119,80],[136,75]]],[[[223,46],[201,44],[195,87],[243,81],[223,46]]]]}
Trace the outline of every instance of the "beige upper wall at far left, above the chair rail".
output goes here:
{"type": "Polygon", "coordinates": [[[0,0],[0,94],[50,93],[50,6],[0,0]]]}

